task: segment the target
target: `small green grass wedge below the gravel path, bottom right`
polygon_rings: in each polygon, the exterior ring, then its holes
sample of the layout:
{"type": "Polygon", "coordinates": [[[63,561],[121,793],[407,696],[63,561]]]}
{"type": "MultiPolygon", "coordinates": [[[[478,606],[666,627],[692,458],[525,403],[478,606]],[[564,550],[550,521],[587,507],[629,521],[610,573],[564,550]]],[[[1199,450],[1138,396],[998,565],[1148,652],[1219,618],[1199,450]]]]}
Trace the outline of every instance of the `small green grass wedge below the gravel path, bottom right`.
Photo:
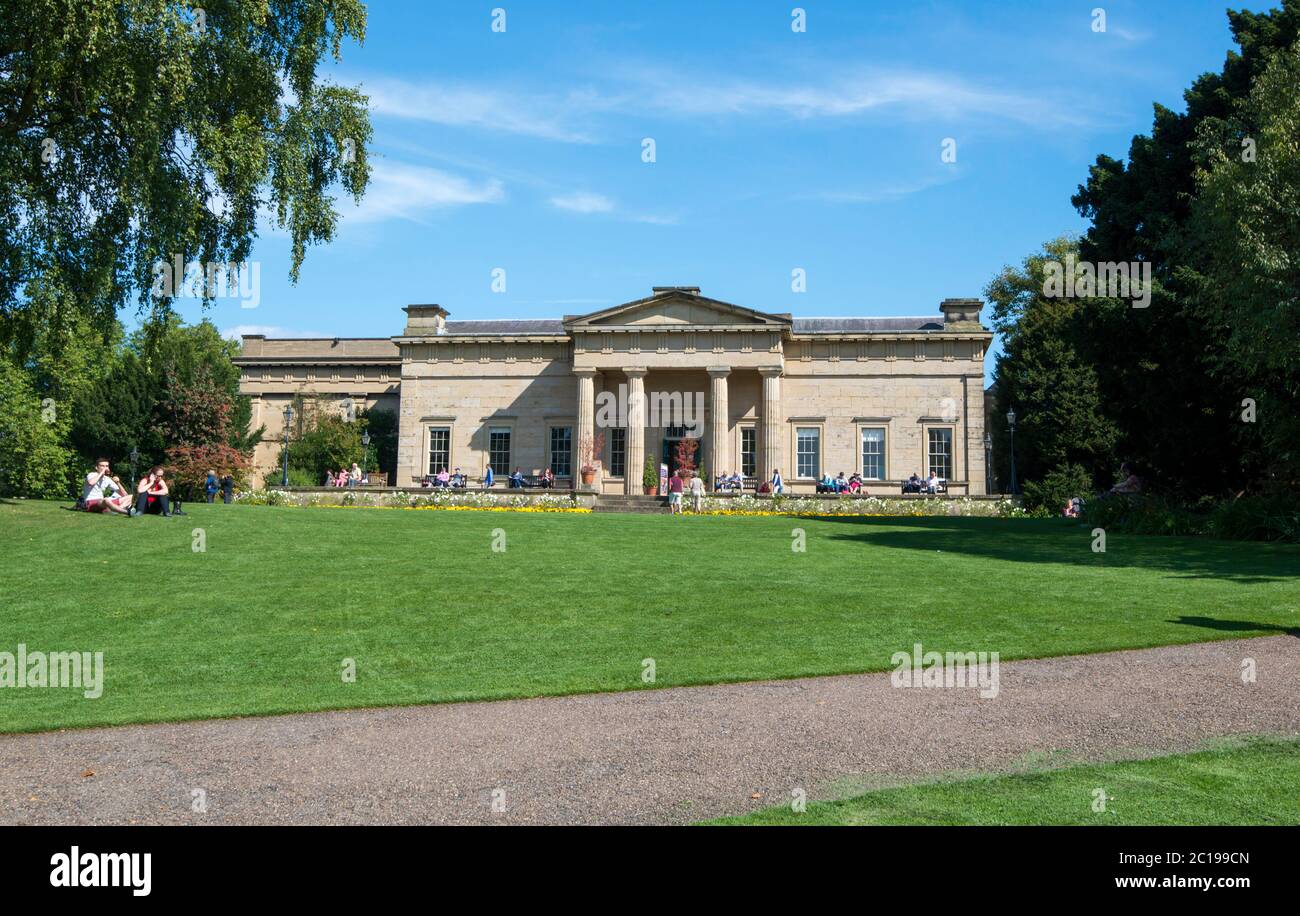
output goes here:
{"type": "Polygon", "coordinates": [[[1300,739],[1257,738],[1197,754],[884,789],[802,813],[766,808],[714,824],[1266,825],[1300,824],[1300,739]],[[1105,809],[1095,811],[1101,789],[1105,809]]]}

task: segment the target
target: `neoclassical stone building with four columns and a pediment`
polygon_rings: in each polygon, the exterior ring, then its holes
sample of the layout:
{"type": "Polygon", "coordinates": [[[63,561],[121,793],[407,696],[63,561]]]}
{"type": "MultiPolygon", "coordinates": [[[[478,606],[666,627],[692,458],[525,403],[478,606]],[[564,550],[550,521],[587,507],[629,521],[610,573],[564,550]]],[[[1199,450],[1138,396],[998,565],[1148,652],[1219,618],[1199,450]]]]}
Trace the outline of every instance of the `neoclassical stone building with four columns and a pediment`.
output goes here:
{"type": "Polygon", "coordinates": [[[398,486],[441,468],[498,478],[550,466],[571,486],[641,492],[647,455],[673,464],[698,440],[711,478],[780,468],[794,491],[826,473],[861,473],[897,492],[935,470],[954,494],[983,494],[984,355],[978,299],[945,299],[914,318],[796,318],[732,305],[698,287],[559,320],[451,321],[408,305],[394,338],[246,337],[242,390],[274,479],[281,413],[298,394],[399,414],[398,486]],[[590,455],[593,444],[599,451],[590,455]]]}

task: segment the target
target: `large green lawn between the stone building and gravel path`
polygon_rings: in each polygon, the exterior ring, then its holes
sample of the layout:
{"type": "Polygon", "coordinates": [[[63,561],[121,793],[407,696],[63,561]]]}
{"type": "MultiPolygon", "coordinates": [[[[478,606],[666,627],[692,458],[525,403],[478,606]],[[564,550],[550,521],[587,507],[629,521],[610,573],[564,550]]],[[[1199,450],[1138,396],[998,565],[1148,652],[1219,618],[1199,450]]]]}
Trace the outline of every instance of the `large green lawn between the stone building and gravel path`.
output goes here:
{"type": "Polygon", "coordinates": [[[103,651],[107,678],[0,690],[0,732],[638,690],[644,659],[664,687],[884,670],[914,642],[1008,660],[1300,628],[1300,547],[1093,553],[1063,520],[190,511],[0,502],[0,651],[103,651]]]}

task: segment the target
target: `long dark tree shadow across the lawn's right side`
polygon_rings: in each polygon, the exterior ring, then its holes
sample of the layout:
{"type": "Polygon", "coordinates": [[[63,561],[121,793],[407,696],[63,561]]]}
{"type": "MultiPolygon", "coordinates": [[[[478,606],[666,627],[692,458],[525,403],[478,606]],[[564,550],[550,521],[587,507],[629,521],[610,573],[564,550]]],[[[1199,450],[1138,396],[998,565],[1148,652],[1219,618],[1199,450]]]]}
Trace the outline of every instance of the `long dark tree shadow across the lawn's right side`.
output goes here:
{"type": "MultiPolygon", "coordinates": [[[[1213,578],[1238,585],[1300,583],[1300,547],[1213,538],[1112,535],[1108,550],[1095,553],[1092,529],[1074,520],[1005,520],[965,517],[880,518],[827,516],[842,525],[835,539],[871,547],[983,556],[1008,563],[1071,566],[1139,566],[1170,578],[1213,578]]],[[[932,556],[926,563],[932,561],[932,556]]]]}

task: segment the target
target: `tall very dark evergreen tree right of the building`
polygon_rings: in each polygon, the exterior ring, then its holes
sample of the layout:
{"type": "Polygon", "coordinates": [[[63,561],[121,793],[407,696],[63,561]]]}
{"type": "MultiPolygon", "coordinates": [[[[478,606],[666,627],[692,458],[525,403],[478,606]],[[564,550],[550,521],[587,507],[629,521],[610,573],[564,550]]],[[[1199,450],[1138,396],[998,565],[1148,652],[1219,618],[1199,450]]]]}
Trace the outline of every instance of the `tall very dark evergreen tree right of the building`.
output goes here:
{"type": "MultiPolygon", "coordinates": [[[[1227,370],[1236,360],[1225,361],[1225,325],[1234,318],[1196,277],[1206,255],[1197,242],[1205,233],[1199,177],[1214,161],[1206,138],[1234,142],[1240,155],[1242,105],[1274,56],[1300,38],[1300,0],[1268,13],[1228,12],[1228,23],[1240,53],[1192,83],[1186,113],[1156,105],[1152,131],[1132,139],[1127,162],[1098,156],[1072,197],[1092,222],[1082,257],[1149,262],[1156,281],[1149,308],[1086,312],[1075,352],[1096,372],[1121,451],[1157,483],[1192,494],[1247,486],[1260,464],[1238,417],[1244,379],[1227,370]]],[[[1295,252],[1292,236],[1288,257],[1295,252]]]]}

